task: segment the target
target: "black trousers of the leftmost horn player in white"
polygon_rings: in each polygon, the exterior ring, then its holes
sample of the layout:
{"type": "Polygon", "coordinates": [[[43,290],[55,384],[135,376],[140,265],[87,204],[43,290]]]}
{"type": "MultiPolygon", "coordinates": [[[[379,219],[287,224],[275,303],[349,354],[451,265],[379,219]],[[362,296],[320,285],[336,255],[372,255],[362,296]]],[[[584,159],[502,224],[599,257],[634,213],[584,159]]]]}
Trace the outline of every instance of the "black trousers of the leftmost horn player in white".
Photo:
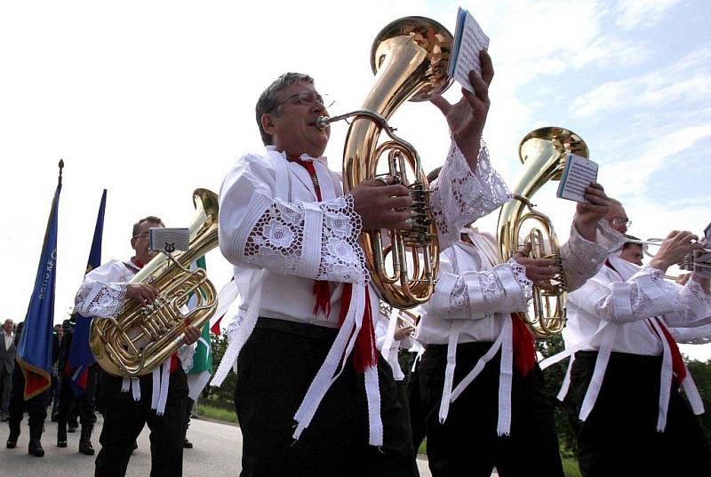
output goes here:
{"type": "Polygon", "coordinates": [[[140,378],[140,401],[132,392],[121,392],[122,378],[101,374],[104,393],[104,426],[96,457],[96,477],[123,477],[131,458],[133,442],[144,425],[150,429],[151,477],[179,477],[183,471],[183,435],[188,379],[182,368],[171,374],[165,413],[150,409],[153,377],[140,378]]]}

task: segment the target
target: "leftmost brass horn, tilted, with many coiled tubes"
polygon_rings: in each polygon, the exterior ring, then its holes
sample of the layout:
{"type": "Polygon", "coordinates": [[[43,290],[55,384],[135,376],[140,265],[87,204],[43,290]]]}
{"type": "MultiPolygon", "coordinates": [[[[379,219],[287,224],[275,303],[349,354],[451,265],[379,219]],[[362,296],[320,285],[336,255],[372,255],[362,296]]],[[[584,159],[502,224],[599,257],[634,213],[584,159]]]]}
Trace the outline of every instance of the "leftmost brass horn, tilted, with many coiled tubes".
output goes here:
{"type": "Polygon", "coordinates": [[[188,268],[218,244],[218,198],[207,189],[196,189],[193,203],[197,211],[189,226],[189,250],[159,254],[132,278],[131,282],[155,286],[160,297],[145,308],[127,299],[116,318],[92,322],[92,353],[113,375],[133,378],[156,369],[177,351],[185,329],[202,329],[217,308],[217,293],[205,271],[188,268]],[[180,308],[192,295],[196,306],[183,314],[180,308]]]}

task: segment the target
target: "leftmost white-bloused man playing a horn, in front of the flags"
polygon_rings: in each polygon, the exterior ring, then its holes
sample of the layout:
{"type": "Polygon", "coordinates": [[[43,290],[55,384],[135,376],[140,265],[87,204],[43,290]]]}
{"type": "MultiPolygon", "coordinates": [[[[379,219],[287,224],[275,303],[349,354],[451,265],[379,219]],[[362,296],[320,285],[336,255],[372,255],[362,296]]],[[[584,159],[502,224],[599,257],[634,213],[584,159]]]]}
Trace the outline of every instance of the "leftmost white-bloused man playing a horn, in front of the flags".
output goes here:
{"type": "MultiPolygon", "coordinates": [[[[110,260],[84,276],[76,293],[76,313],[94,319],[109,318],[121,313],[124,299],[138,300],[144,306],[153,303],[158,296],[155,287],[131,282],[133,276],[156,256],[148,249],[151,227],[165,226],[155,216],[140,219],[133,225],[131,238],[135,255],[126,261],[110,260]]],[[[183,342],[192,345],[198,338],[200,330],[189,326],[183,342]]],[[[100,386],[105,404],[104,426],[94,475],[123,477],[136,439],[143,426],[148,425],[151,431],[151,477],[180,477],[188,378],[177,354],[153,373],[140,378],[118,378],[103,372],[100,386]]]]}

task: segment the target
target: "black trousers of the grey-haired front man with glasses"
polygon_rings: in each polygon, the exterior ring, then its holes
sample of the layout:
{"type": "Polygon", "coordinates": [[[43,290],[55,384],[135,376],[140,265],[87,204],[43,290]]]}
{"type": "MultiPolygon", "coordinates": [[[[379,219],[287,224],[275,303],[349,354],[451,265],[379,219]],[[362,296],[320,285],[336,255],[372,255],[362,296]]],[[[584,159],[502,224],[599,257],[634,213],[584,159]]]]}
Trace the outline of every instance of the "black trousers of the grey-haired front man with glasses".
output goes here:
{"type": "Polygon", "coordinates": [[[368,445],[363,375],[347,366],[299,441],[293,416],[338,330],[260,318],[237,360],[235,408],[243,477],[410,476],[411,436],[392,370],[378,365],[384,445],[368,445]]]}

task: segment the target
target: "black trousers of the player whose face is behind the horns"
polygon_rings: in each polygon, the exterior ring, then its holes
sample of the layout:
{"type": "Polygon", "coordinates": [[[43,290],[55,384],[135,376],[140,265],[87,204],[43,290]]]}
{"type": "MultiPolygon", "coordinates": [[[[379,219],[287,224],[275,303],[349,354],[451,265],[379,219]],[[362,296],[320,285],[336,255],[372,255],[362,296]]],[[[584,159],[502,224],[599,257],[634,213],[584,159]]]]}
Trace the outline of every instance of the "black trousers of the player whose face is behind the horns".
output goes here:
{"type": "MultiPolygon", "coordinates": [[[[454,386],[475,366],[491,343],[457,346],[454,386]]],[[[430,345],[419,365],[419,391],[426,412],[427,457],[434,477],[486,476],[496,467],[501,477],[561,476],[552,398],[543,394],[538,366],[523,378],[514,369],[511,433],[497,435],[499,416],[500,353],[451,403],[449,415],[439,422],[447,346],[430,345]]]]}

